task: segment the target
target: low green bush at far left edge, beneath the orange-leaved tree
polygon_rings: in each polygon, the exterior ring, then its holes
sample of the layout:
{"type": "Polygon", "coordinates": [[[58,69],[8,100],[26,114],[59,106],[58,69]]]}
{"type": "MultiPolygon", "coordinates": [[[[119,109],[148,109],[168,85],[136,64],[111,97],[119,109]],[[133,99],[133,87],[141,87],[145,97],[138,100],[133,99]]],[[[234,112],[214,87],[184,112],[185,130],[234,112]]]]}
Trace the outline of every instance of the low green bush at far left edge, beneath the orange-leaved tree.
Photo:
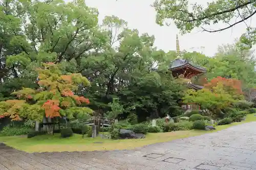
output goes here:
{"type": "Polygon", "coordinates": [[[19,128],[4,127],[1,130],[1,134],[4,136],[18,136],[18,135],[27,135],[30,131],[31,129],[27,127],[19,127],[19,128]]]}

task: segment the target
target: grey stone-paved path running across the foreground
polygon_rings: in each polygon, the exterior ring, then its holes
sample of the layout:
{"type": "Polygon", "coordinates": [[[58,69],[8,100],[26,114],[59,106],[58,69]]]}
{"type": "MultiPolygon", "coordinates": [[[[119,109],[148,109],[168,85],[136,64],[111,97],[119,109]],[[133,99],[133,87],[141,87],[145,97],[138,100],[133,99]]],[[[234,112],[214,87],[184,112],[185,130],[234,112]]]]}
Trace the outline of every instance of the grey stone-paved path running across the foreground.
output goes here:
{"type": "Polygon", "coordinates": [[[130,151],[25,153],[0,143],[1,170],[256,170],[256,123],[130,151]]]}

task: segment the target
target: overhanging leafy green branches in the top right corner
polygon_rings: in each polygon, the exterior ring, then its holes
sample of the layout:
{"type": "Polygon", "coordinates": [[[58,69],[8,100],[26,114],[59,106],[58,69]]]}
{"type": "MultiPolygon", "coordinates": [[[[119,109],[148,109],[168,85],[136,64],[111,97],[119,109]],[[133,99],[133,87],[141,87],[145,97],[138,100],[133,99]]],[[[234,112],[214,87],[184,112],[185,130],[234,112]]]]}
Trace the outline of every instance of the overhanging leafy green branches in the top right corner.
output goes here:
{"type": "MultiPolygon", "coordinates": [[[[206,8],[202,5],[191,4],[192,8],[189,10],[188,0],[156,0],[152,6],[157,12],[156,22],[160,26],[164,25],[165,19],[172,19],[182,33],[189,33],[197,27],[212,33],[227,30],[241,22],[245,22],[256,14],[255,5],[255,0],[218,0],[207,3],[206,8]],[[229,23],[235,17],[237,18],[236,21],[229,23]],[[205,25],[210,26],[219,22],[226,23],[227,26],[219,30],[203,28],[205,25]]],[[[256,28],[247,26],[247,33],[241,36],[241,40],[243,43],[252,46],[256,42],[255,35],[256,28]]]]}

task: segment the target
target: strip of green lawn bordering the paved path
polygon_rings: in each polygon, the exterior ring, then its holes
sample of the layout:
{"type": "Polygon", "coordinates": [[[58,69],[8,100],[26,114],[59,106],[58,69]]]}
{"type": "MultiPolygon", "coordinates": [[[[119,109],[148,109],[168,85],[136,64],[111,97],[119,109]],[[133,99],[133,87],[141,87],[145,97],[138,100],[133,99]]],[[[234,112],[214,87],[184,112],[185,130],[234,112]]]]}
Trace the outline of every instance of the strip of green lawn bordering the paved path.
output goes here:
{"type": "MultiPolygon", "coordinates": [[[[255,114],[255,113],[254,113],[255,114]]],[[[84,138],[74,134],[70,138],[61,138],[60,135],[41,135],[28,139],[26,136],[0,136],[0,141],[18,150],[26,152],[62,152],[62,151],[102,151],[102,150],[124,150],[143,147],[144,145],[165,142],[190,136],[217,132],[231,126],[256,121],[254,114],[248,114],[243,122],[230,125],[216,126],[214,131],[176,131],[168,133],[149,133],[145,139],[123,139],[112,140],[97,138],[84,138]]]]}

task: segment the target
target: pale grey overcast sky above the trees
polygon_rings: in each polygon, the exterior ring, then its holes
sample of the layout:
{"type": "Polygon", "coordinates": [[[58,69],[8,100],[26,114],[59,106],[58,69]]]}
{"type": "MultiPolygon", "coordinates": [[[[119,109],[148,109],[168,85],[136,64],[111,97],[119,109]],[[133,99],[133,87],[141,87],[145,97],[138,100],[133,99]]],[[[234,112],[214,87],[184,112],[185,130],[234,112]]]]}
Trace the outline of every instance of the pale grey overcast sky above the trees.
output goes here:
{"type": "MultiPolygon", "coordinates": [[[[150,7],[153,2],[154,0],[86,0],[88,6],[99,10],[99,20],[106,15],[115,15],[126,20],[129,28],[138,29],[140,34],[155,35],[155,45],[159,49],[166,52],[175,50],[176,34],[179,33],[179,30],[175,25],[160,27],[155,23],[156,12],[154,8],[150,7]]],[[[204,5],[212,0],[202,0],[203,3],[198,0],[189,0],[189,2],[198,2],[198,4],[204,5]]],[[[256,27],[255,19],[256,17],[248,19],[247,25],[256,27]],[[254,23],[251,20],[254,20],[254,23]]],[[[225,25],[220,24],[211,29],[223,27],[225,25]]],[[[246,25],[243,22],[220,33],[207,33],[196,29],[192,33],[179,36],[180,48],[181,51],[199,51],[207,56],[212,56],[217,52],[218,45],[234,42],[234,39],[239,38],[245,31],[246,25]]]]}

